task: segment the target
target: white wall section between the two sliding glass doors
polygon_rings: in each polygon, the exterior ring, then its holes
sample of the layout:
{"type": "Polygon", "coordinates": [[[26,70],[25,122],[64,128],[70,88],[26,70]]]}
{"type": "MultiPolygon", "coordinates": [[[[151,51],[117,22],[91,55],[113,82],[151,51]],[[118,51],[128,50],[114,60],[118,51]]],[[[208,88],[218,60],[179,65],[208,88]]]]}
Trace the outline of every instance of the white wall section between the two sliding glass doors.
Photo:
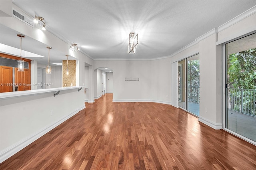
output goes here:
{"type": "Polygon", "coordinates": [[[216,34],[201,40],[200,46],[200,115],[199,121],[222,128],[222,47],[216,34]],[[207,111],[206,111],[207,110],[207,111]]]}

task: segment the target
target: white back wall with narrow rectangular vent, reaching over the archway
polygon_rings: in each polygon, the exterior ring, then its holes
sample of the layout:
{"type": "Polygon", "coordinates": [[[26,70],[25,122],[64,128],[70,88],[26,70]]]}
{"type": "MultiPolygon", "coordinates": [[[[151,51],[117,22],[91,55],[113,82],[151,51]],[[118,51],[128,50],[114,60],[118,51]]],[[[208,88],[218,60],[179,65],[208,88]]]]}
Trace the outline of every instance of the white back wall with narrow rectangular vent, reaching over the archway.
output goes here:
{"type": "Polygon", "coordinates": [[[170,58],[94,61],[94,68],[99,67],[113,69],[113,101],[155,101],[170,104],[170,58]],[[126,77],[138,77],[139,81],[124,81],[126,77]]]}

